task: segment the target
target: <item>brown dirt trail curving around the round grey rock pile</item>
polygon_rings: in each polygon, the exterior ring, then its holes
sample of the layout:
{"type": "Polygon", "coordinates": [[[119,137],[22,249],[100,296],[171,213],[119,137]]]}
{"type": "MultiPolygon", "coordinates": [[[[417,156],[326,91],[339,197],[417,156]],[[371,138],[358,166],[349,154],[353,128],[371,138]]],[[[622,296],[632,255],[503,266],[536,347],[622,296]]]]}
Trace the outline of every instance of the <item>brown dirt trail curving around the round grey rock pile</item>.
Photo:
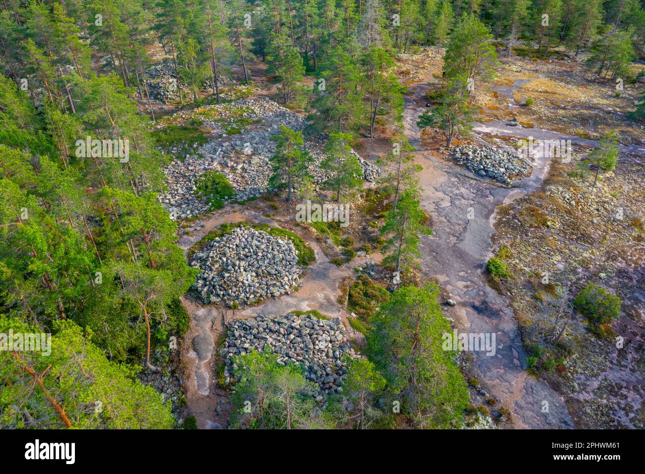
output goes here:
{"type": "MultiPolygon", "coordinates": [[[[283,222],[273,221],[258,213],[248,210],[231,212],[230,207],[227,207],[192,223],[194,230],[190,235],[183,235],[178,245],[188,255],[188,250],[208,232],[227,222],[242,221],[288,228],[283,222]]],[[[283,316],[290,311],[318,310],[331,318],[340,317],[345,323],[347,335],[360,341],[362,335],[355,333],[347,324],[348,311],[337,301],[341,294],[340,284],[344,278],[352,275],[351,268],[333,264],[323,253],[313,234],[304,228],[295,227],[289,230],[303,237],[316,256],[316,260],[306,267],[301,275],[298,290],[277,299],[267,299],[258,306],[247,306],[234,312],[227,310],[226,322],[230,323],[233,319],[250,319],[258,315],[283,316]]],[[[354,260],[353,263],[361,264],[364,258],[354,260]]],[[[185,295],[182,303],[191,316],[190,329],[184,335],[181,357],[188,411],[195,416],[197,427],[200,429],[226,428],[232,405],[228,393],[218,386],[215,379],[215,359],[219,350],[217,341],[226,334],[224,313],[221,306],[203,305],[191,294],[185,295]]]]}

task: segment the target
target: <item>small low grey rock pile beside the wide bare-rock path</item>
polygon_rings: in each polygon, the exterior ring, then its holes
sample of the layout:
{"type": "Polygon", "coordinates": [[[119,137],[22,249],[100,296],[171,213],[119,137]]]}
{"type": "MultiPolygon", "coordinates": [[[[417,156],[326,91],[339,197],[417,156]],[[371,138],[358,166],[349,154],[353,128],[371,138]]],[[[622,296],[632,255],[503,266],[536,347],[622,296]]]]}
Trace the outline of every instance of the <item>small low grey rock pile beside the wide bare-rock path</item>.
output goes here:
{"type": "Polygon", "coordinates": [[[478,148],[473,145],[455,146],[450,156],[457,164],[482,177],[494,179],[497,183],[511,184],[511,177],[530,175],[532,168],[528,162],[513,153],[495,148],[478,148]]]}

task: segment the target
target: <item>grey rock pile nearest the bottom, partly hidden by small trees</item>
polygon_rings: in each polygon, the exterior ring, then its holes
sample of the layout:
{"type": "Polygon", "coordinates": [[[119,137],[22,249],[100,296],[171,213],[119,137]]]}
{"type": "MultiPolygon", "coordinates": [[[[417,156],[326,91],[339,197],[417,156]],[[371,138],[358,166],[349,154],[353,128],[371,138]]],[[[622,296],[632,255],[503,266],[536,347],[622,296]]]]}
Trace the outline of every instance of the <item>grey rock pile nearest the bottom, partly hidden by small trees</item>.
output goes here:
{"type": "Polygon", "coordinates": [[[311,393],[318,401],[325,395],[342,391],[347,369],[341,359],[345,354],[354,356],[354,353],[339,318],[325,321],[313,315],[290,313],[277,318],[258,316],[233,321],[220,351],[225,357],[226,383],[234,377],[233,356],[250,350],[263,351],[266,344],[277,353],[279,364],[304,365],[306,379],[316,382],[320,388],[311,393]]]}

